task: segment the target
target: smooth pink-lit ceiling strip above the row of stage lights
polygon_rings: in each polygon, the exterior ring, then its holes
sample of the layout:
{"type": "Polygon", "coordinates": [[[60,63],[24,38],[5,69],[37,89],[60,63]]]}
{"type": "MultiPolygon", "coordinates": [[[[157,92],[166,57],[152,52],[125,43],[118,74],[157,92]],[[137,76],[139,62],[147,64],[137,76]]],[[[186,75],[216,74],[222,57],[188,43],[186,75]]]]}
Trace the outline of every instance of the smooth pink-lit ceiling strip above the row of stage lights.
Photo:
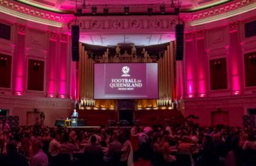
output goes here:
{"type": "Polygon", "coordinates": [[[109,13],[122,13],[124,6],[130,7],[130,12],[148,12],[148,8],[153,8],[154,12],[160,11],[160,6],[165,6],[166,12],[179,6],[182,11],[197,11],[215,5],[230,2],[230,0],[16,0],[26,5],[37,8],[44,8],[56,12],[74,12],[76,8],[83,8],[83,12],[90,12],[96,6],[98,12],[103,8],[108,8],[109,13]]]}

